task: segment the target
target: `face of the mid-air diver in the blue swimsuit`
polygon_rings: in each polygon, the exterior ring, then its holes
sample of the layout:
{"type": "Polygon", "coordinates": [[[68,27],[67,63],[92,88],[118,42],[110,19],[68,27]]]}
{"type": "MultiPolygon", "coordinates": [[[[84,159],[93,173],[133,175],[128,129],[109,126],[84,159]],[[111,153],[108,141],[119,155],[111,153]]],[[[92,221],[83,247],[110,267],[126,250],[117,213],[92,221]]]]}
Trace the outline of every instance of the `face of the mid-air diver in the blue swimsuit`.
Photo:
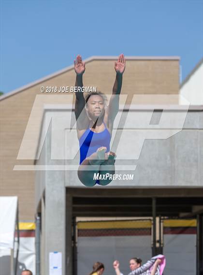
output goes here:
{"type": "Polygon", "coordinates": [[[91,95],[87,101],[87,111],[91,118],[98,118],[104,113],[104,100],[100,95],[91,95]]]}

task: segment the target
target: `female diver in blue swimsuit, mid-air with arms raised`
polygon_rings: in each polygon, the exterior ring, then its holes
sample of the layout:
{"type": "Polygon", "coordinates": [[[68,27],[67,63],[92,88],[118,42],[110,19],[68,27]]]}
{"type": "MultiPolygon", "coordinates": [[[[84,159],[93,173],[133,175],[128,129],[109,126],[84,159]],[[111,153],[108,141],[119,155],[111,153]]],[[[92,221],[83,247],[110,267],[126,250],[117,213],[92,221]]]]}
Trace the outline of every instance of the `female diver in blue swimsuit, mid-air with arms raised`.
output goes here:
{"type": "MultiPolygon", "coordinates": [[[[83,87],[85,62],[80,55],[74,60],[76,72],[76,87],[83,87]]],[[[122,75],[125,71],[125,58],[121,54],[115,62],[116,80],[109,105],[105,106],[106,96],[101,92],[76,92],[75,117],[77,137],[80,145],[80,166],[78,177],[80,181],[92,187],[95,184],[107,185],[115,174],[116,154],[110,152],[110,141],[114,120],[119,107],[119,95],[122,87],[122,75]],[[100,179],[94,179],[94,174],[100,174],[100,179]],[[105,175],[110,175],[108,178],[105,175]]]]}

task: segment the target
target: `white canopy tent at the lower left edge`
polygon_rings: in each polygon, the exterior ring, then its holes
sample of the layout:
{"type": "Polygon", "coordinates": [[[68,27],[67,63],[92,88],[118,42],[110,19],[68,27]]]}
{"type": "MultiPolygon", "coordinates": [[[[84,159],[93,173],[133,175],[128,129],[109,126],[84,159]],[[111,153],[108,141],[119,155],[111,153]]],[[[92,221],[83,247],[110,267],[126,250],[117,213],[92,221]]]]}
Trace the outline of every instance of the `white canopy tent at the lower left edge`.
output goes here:
{"type": "Polygon", "coordinates": [[[0,197],[0,274],[15,275],[18,245],[15,246],[15,232],[18,230],[17,197],[0,197]],[[16,227],[17,226],[17,227],[16,227]],[[16,252],[14,266],[14,252],[16,252]]]}

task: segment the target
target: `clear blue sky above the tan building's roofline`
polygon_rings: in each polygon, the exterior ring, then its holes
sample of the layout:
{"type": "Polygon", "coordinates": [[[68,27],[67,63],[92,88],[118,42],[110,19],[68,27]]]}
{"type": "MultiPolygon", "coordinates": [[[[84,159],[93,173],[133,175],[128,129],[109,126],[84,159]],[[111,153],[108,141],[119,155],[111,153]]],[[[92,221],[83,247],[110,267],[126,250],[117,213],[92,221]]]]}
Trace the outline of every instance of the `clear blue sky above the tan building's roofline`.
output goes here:
{"type": "Polygon", "coordinates": [[[203,56],[202,0],[0,1],[0,90],[73,64],[77,54],[180,56],[182,79],[203,56]]]}

